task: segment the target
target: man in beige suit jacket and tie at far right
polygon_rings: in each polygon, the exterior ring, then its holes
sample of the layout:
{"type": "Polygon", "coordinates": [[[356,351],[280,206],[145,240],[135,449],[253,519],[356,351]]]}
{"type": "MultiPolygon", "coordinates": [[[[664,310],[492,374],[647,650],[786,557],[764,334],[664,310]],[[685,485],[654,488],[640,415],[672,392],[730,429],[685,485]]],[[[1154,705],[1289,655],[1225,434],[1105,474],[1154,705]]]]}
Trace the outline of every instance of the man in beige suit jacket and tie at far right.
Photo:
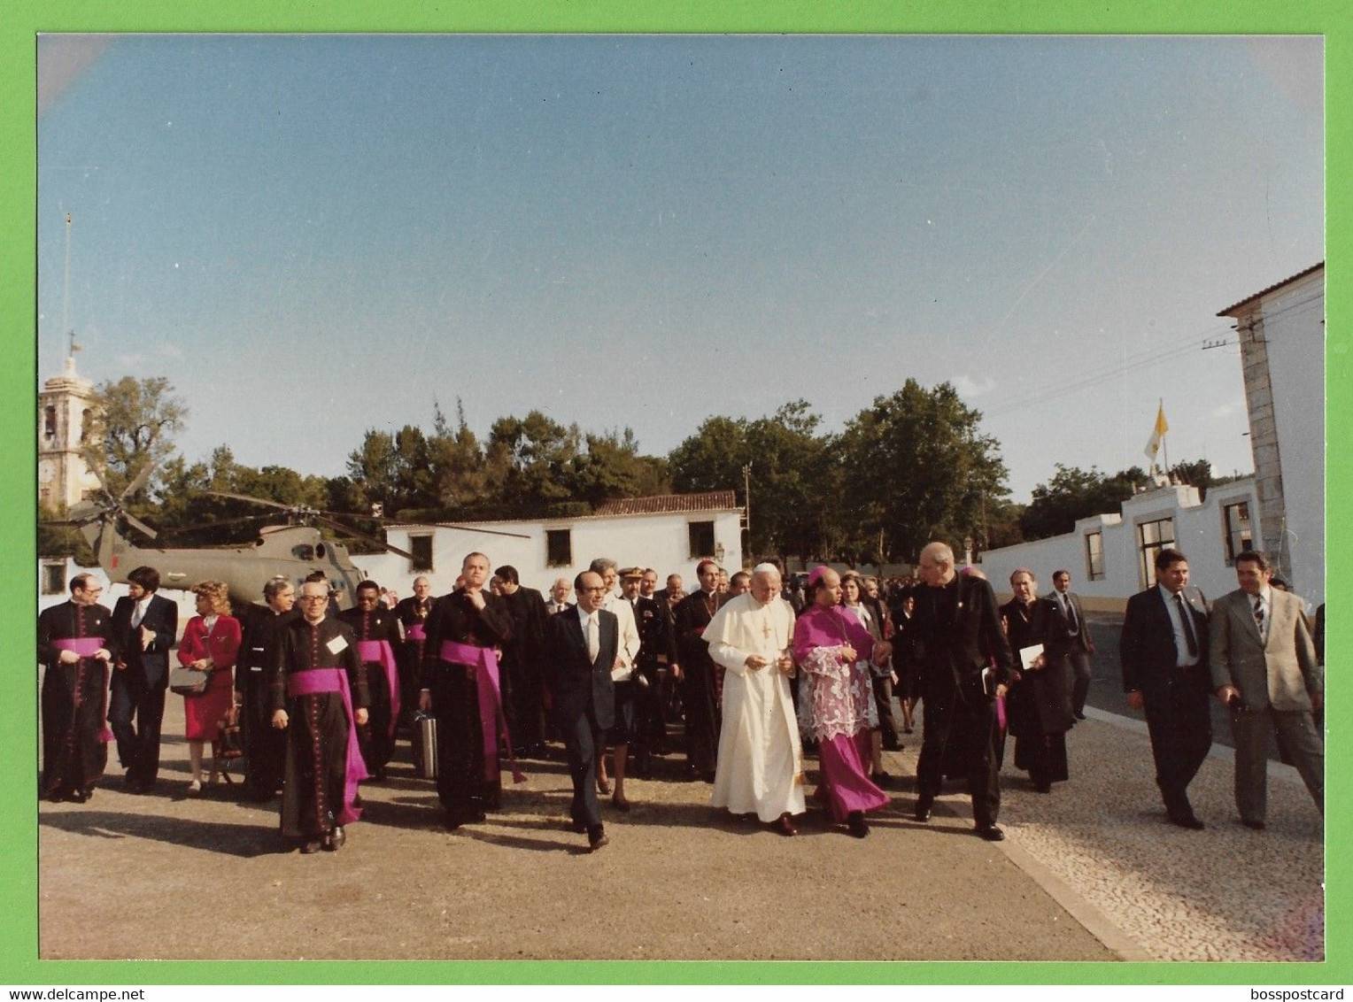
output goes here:
{"type": "Polygon", "coordinates": [[[1321,706],[1325,679],[1302,599],[1269,587],[1268,560],[1241,553],[1235,577],[1241,587],[1212,604],[1212,686],[1231,707],[1235,806],[1246,828],[1262,830],[1270,729],[1325,813],[1325,742],[1311,718],[1321,706]]]}

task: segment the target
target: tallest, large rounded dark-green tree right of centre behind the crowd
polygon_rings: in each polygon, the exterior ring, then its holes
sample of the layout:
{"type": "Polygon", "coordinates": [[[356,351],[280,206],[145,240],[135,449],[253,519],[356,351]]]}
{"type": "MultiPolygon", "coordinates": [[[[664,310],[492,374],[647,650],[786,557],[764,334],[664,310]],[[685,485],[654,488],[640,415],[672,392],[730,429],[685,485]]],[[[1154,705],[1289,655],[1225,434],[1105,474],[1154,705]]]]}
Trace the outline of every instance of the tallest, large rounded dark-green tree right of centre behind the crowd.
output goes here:
{"type": "Polygon", "coordinates": [[[838,545],[858,557],[913,560],[932,540],[981,537],[984,507],[1004,499],[1000,445],[950,383],[907,380],[842,433],[838,545]],[[877,542],[875,542],[877,541],[877,542]]]}

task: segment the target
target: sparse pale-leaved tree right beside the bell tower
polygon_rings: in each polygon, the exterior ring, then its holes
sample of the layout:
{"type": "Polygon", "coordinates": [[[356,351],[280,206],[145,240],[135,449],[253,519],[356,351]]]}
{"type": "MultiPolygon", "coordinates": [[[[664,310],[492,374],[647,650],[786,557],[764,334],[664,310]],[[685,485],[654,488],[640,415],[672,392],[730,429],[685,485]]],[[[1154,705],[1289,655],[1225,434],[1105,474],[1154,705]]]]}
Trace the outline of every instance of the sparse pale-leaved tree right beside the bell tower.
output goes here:
{"type": "MultiPolygon", "coordinates": [[[[106,380],[93,396],[93,430],[84,448],[85,462],[99,473],[114,496],[141,473],[173,453],[173,434],[181,431],[188,408],[173,396],[164,376],[116,383],[106,380]]],[[[149,484],[131,500],[149,496],[149,484]]]]}

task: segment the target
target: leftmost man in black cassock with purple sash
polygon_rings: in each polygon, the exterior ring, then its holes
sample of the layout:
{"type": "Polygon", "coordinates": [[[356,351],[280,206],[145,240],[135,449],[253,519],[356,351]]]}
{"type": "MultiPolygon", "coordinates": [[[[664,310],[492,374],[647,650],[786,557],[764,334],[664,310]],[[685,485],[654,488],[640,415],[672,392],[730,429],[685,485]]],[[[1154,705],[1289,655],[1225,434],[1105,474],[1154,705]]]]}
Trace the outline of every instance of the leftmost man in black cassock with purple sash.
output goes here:
{"type": "Polygon", "coordinates": [[[108,764],[108,667],[116,656],[112,613],[93,575],[70,579],[70,598],[38,617],[42,676],[42,787],[49,801],[84,803],[108,764]]]}

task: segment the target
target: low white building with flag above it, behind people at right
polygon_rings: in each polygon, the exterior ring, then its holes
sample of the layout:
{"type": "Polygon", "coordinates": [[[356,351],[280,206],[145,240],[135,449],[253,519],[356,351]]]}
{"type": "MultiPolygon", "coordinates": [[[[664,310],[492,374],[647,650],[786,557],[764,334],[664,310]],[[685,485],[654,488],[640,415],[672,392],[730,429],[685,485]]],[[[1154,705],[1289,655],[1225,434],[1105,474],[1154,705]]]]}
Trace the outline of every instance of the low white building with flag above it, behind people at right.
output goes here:
{"type": "Polygon", "coordinates": [[[1172,548],[1188,557],[1191,584],[1211,600],[1235,590],[1233,561],[1254,549],[1257,511],[1250,477],[1208,488],[1206,502],[1196,487],[1162,487],[1128,498],[1118,512],[1082,518],[1065,535],[986,550],[980,567],[1005,598],[1017,568],[1031,569],[1043,594],[1054,571],[1070,571],[1088,610],[1116,613],[1155,583],[1155,554],[1172,548]]]}

